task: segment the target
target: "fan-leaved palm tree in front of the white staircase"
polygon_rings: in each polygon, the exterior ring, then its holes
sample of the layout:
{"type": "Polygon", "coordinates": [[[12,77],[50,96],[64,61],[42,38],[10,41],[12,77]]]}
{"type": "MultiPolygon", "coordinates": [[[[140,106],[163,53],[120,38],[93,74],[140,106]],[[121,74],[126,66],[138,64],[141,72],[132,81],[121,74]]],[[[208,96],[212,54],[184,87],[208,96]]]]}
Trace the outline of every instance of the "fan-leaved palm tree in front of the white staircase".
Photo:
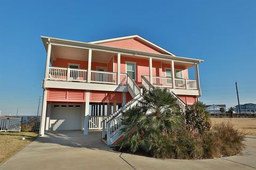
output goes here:
{"type": "Polygon", "coordinates": [[[142,107],[133,107],[123,113],[121,133],[124,139],[120,149],[131,152],[142,149],[152,152],[157,142],[180,124],[177,99],[166,89],[154,88],[143,94],[142,107]]]}

